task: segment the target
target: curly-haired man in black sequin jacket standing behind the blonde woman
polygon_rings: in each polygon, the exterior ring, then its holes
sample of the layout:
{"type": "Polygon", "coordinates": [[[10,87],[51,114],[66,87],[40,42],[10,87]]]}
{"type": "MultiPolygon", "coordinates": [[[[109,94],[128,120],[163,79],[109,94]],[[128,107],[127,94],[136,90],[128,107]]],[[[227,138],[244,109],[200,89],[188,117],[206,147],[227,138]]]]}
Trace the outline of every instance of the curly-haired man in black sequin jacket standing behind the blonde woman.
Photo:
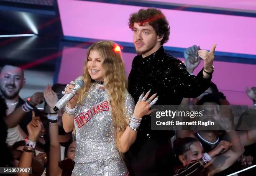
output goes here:
{"type": "MultiPolygon", "coordinates": [[[[128,77],[128,91],[138,101],[143,91],[158,93],[157,105],[179,105],[183,97],[197,97],[210,84],[214,50],[198,51],[204,68],[197,76],[190,75],[186,66],[164,51],[169,39],[168,21],[160,10],[149,8],[133,13],[129,19],[138,56],[133,59],[128,77]]],[[[151,130],[150,115],[144,116],[135,143],[125,153],[131,176],[165,176],[174,173],[174,157],[170,138],[173,130],[151,130]]]]}

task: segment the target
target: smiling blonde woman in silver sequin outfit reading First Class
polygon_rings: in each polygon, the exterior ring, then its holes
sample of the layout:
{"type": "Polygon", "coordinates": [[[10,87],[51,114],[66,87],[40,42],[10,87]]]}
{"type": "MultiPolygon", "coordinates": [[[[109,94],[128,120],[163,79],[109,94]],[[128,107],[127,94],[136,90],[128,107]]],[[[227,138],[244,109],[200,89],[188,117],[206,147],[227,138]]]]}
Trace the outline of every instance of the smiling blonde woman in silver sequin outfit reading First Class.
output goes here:
{"type": "MultiPolygon", "coordinates": [[[[136,140],[129,121],[150,114],[149,92],[138,101],[125,88],[125,70],[120,47],[112,41],[94,43],[87,51],[83,76],[85,85],[67,103],[62,117],[66,132],[75,131],[75,166],[72,176],[128,175],[123,153],[136,140]]],[[[72,93],[74,85],[65,88],[72,93]]],[[[157,99],[156,99],[157,100],[157,99]]],[[[138,127],[136,127],[138,128],[138,127]]]]}

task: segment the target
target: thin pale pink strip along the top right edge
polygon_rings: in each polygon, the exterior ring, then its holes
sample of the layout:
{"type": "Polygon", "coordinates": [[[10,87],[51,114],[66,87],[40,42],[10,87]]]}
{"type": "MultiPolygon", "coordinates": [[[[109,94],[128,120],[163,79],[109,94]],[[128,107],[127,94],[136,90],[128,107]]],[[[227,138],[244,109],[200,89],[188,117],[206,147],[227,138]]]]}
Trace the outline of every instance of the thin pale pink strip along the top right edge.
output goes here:
{"type": "Polygon", "coordinates": [[[256,11],[255,0],[146,0],[164,3],[186,4],[190,6],[199,5],[211,8],[239,9],[243,11],[256,11]]]}

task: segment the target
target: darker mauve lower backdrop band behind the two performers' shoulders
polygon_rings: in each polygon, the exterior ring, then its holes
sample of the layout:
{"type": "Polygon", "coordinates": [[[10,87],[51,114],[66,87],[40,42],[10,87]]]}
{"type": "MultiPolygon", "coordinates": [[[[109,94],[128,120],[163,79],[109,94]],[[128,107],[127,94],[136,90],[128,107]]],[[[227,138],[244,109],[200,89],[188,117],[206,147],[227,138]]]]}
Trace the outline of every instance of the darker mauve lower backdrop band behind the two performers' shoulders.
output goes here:
{"type": "MultiPolygon", "coordinates": [[[[87,49],[64,48],[59,72],[59,83],[67,84],[82,75],[87,49]]],[[[136,54],[123,53],[126,76],[131,70],[133,57],[136,54]]],[[[179,58],[180,59],[180,58],[179,58]]],[[[182,60],[182,59],[181,59],[182,60]]],[[[195,70],[197,74],[202,69],[203,62],[195,70]]],[[[215,71],[212,81],[217,84],[227,99],[233,105],[252,105],[245,93],[245,86],[255,86],[256,65],[214,62],[215,71]]]]}

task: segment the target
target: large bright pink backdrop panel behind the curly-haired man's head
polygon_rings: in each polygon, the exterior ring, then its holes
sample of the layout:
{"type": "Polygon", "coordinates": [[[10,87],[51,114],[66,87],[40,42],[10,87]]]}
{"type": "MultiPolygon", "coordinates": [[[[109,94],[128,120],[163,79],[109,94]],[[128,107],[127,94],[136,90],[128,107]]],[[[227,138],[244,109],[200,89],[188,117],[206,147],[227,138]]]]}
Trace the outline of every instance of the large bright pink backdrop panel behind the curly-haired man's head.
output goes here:
{"type": "MultiPolygon", "coordinates": [[[[128,17],[142,8],[82,0],[58,0],[58,4],[65,36],[130,43],[133,33],[128,17]]],[[[187,48],[197,44],[210,49],[217,43],[216,51],[256,55],[256,18],[161,10],[171,27],[165,46],[187,48]]]]}

